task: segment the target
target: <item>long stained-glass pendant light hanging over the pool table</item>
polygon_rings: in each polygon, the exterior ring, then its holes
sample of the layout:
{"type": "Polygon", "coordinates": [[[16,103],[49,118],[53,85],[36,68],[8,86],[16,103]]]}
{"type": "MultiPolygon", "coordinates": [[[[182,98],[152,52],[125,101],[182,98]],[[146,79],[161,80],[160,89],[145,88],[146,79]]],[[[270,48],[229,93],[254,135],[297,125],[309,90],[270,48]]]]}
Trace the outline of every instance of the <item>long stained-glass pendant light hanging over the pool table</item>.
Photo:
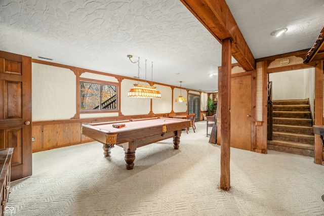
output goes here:
{"type": "MultiPolygon", "coordinates": [[[[131,58],[133,58],[132,55],[127,55],[127,57],[130,59],[130,61],[134,64],[138,63],[138,83],[134,84],[134,87],[128,91],[128,97],[132,98],[161,98],[161,93],[155,89],[155,87],[151,85],[144,85],[139,83],[140,78],[140,57],[138,57],[138,60],[132,61],[131,58]]],[[[152,62],[152,85],[153,85],[153,62],[152,62]]],[[[146,60],[145,60],[145,81],[146,81],[146,60]]]]}

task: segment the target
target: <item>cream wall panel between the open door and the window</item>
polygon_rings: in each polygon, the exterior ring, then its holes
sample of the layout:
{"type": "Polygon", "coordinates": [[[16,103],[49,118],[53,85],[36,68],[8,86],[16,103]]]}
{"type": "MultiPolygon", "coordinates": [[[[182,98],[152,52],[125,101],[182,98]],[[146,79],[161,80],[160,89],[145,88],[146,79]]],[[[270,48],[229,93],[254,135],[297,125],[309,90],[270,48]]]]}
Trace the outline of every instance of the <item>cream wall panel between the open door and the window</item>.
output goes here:
{"type": "Polygon", "coordinates": [[[76,75],[67,68],[31,64],[32,120],[70,119],[76,114],[76,75]]]}

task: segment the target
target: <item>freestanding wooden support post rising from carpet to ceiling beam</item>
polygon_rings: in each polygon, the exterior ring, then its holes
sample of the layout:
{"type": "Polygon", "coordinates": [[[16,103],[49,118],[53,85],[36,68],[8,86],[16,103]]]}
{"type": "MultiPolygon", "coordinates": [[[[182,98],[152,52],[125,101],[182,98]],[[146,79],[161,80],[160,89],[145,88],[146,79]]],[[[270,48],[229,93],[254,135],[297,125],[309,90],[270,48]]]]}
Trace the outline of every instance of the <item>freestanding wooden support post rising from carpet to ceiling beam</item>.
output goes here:
{"type": "Polygon", "coordinates": [[[231,135],[231,58],[232,41],[230,38],[222,40],[222,86],[221,94],[221,183],[224,191],[230,189],[230,135],[231,135]]]}

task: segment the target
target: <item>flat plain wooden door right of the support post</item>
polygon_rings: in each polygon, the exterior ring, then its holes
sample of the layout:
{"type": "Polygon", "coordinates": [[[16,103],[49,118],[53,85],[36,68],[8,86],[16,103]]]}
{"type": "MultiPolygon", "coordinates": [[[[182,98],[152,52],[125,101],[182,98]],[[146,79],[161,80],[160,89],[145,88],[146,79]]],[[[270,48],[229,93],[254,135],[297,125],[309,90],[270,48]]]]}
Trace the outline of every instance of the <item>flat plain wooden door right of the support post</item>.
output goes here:
{"type": "Polygon", "coordinates": [[[231,78],[231,147],[252,150],[251,75],[231,78]]]}

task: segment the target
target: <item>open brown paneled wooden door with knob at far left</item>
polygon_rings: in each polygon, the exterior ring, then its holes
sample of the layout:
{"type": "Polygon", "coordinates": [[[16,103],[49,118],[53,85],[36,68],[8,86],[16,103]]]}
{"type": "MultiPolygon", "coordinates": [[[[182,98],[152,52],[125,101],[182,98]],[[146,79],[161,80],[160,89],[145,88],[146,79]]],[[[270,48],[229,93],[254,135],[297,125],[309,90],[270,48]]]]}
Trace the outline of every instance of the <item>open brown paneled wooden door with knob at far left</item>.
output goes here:
{"type": "Polygon", "coordinates": [[[0,51],[0,148],[14,148],[11,181],[31,176],[31,58],[0,51]]]}

